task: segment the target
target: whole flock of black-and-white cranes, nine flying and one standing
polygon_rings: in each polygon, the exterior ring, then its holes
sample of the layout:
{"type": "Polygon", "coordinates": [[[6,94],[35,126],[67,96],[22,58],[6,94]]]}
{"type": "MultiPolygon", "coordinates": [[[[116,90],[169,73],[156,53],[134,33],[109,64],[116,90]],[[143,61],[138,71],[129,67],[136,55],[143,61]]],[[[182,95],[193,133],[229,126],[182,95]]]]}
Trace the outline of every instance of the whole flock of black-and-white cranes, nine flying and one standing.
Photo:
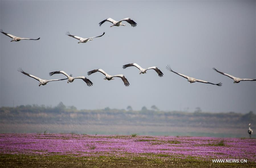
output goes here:
{"type": "MultiPolygon", "coordinates": [[[[114,19],[112,19],[112,18],[107,18],[106,20],[103,20],[102,22],[100,22],[100,23],[99,23],[99,26],[101,26],[101,25],[102,25],[103,23],[105,23],[105,22],[111,22],[112,25],[111,25],[110,27],[113,27],[113,26],[125,26],[125,24],[122,24],[122,21],[128,22],[132,27],[136,27],[136,25],[137,25],[137,23],[134,22],[133,20],[131,20],[130,18],[124,18],[124,19],[122,19],[122,20],[120,20],[120,21],[116,21],[116,20],[114,20],[114,19]]],[[[0,29],[0,30],[1,30],[1,33],[3,33],[4,35],[7,35],[7,36],[9,36],[9,37],[12,38],[11,42],[13,42],[13,41],[21,41],[21,40],[39,40],[39,39],[40,39],[40,37],[39,37],[38,39],[29,39],[29,38],[16,37],[16,36],[11,35],[11,34],[9,34],[9,33],[3,32],[2,29],[0,29]]],[[[104,32],[102,35],[100,35],[100,36],[89,37],[89,38],[82,38],[82,37],[79,37],[79,36],[71,35],[68,31],[67,31],[67,33],[66,33],[66,35],[68,35],[68,36],[70,36],[70,37],[73,37],[73,38],[79,40],[78,43],[85,43],[85,42],[91,41],[91,40],[93,40],[94,38],[102,37],[104,34],[105,34],[105,32],[104,32]]],[[[161,70],[158,69],[158,68],[155,67],[155,66],[149,67],[149,68],[147,68],[147,69],[144,69],[144,68],[140,67],[140,65],[138,65],[137,63],[130,63],[130,64],[123,65],[123,69],[126,69],[127,67],[132,67],[132,66],[138,68],[138,69],[140,70],[140,74],[147,73],[147,70],[153,69],[153,70],[155,70],[155,72],[158,74],[159,77],[162,77],[162,76],[163,76],[163,73],[161,72],[161,70]]],[[[187,76],[187,75],[183,75],[183,74],[181,74],[181,73],[177,73],[177,72],[175,72],[175,71],[173,71],[173,70],[171,69],[170,65],[167,65],[167,66],[166,66],[166,69],[167,69],[168,71],[171,71],[171,72],[177,74],[177,75],[182,76],[183,78],[186,78],[190,83],[202,82],[202,83],[207,83],[207,84],[213,84],[213,85],[217,85],[217,86],[222,86],[222,83],[221,83],[221,82],[219,82],[219,83],[217,83],[217,84],[214,84],[214,83],[207,82],[207,81],[200,80],[200,79],[196,79],[196,78],[193,78],[193,77],[190,77],[190,76],[187,76]]],[[[223,72],[221,72],[221,71],[218,71],[218,70],[215,69],[215,68],[213,68],[213,69],[214,69],[216,72],[218,72],[218,73],[220,73],[220,74],[222,74],[222,75],[226,75],[226,76],[232,78],[232,79],[234,80],[234,83],[239,83],[240,81],[256,81],[256,79],[237,78],[237,77],[232,76],[232,75],[229,75],[229,74],[227,74],[227,73],[223,73],[223,72]]],[[[89,79],[86,78],[85,76],[72,77],[72,74],[68,75],[68,74],[65,73],[64,71],[54,71],[54,72],[50,72],[49,75],[52,76],[52,75],[54,75],[54,74],[63,74],[63,75],[65,75],[67,78],[64,78],[64,79],[51,79],[51,80],[45,80],[45,79],[38,78],[38,77],[36,77],[36,76],[34,76],[34,75],[30,75],[30,74],[24,72],[21,68],[19,68],[18,71],[21,72],[21,73],[23,73],[24,75],[27,75],[27,76],[29,76],[29,77],[31,77],[31,78],[34,78],[34,79],[38,80],[38,81],[39,81],[39,86],[41,86],[41,85],[46,85],[48,82],[60,81],[60,80],[67,80],[67,83],[69,83],[69,82],[73,82],[75,79],[82,79],[82,80],[87,84],[87,86],[92,86],[92,85],[93,85],[93,82],[91,82],[91,80],[89,80],[89,79]]],[[[129,82],[128,82],[128,80],[125,78],[124,75],[122,75],[122,74],[119,74],[119,75],[108,75],[103,69],[94,69],[94,70],[92,70],[92,71],[89,71],[89,72],[87,73],[87,75],[89,76],[89,75],[91,75],[91,74],[93,74],[93,73],[96,73],[96,72],[100,72],[100,73],[102,73],[103,75],[105,75],[105,78],[104,78],[105,80],[113,80],[115,77],[118,77],[118,78],[121,78],[121,79],[122,79],[122,81],[124,82],[124,85],[125,85],[125,86],[129,86],[129,85],[130,85],[129,82]]],[[[249,136],[250,136],[250,138],[251,138],[251,134],[253,133],[253,130],[251,129],[250,125],[251,125],[251,124],[249,124],[248,133],[249,133],[249,136]]]]}

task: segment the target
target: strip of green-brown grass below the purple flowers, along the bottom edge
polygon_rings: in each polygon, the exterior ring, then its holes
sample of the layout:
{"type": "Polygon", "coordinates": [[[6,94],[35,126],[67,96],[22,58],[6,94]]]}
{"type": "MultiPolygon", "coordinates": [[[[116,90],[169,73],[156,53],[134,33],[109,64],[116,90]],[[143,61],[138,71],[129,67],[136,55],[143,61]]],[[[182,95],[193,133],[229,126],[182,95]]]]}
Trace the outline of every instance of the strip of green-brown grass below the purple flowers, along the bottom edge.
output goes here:
{"type": "Polygon", "coordinates": [[[256,162],[242,163],[212,163],[209,158],[202,160],[196,157],[177,158],[167,154],[140,154],[141,156],[133,156],[130,154],[127,157],[115,156],[75,156],[75,155],[24,155],[24,154],[0,154],[0,168],[29,168],[29,167],[47,167],[47,168],[249,168],[256,167],[256,162]],[[156,156],[159,158],[152,158],[156,156]]]}

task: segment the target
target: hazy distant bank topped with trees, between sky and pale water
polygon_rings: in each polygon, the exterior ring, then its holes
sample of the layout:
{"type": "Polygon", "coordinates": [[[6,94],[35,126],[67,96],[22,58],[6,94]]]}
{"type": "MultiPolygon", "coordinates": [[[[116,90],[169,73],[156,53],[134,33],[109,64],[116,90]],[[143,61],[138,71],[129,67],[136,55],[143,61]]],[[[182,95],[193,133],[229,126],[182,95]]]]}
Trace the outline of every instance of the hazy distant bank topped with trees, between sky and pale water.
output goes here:
{"type": "MultiPolygon", "coordinates": [[[[153,106],[152,106],[153,107],[153,106]]],[[[56,107],[44,105],[21,105],[17,107],[1,107],[0,123],[26,124],[101,124],[101,125],[164,125],[189,127],[247,127],[256,123],[253,112],[240,114],[206,113],[197,110],[194,113],[170,111],[165,112],[153,107],[152,110],[142,108],[134,111],[129,106],[125,109],[77,110],[66,107],[62,102],[56,107]]]]}

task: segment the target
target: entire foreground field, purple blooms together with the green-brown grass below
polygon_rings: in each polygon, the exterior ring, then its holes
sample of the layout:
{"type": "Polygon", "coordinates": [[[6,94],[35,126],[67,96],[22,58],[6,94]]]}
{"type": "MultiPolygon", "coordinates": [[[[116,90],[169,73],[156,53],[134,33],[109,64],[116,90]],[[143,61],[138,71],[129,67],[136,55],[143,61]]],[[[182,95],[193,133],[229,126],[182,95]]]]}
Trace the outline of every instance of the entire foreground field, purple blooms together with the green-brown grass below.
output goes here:
{"type": "Polygon", "coordinates": [[[255,151],[245,138],[0,134],[0,167],[256,167],[255,151]]]}

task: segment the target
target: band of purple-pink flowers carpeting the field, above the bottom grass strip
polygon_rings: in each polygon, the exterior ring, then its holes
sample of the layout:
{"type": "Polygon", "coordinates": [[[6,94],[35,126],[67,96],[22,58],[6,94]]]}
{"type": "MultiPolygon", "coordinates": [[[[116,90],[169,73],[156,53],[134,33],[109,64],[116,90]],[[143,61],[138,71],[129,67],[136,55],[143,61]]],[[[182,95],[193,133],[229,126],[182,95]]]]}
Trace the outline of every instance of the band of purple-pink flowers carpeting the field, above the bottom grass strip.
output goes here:
{"type": "Polygon", "coordinates": [[[130,135],[0,134],[1,154],[140,156],[256,162],[256,139],[130,135]]]}

